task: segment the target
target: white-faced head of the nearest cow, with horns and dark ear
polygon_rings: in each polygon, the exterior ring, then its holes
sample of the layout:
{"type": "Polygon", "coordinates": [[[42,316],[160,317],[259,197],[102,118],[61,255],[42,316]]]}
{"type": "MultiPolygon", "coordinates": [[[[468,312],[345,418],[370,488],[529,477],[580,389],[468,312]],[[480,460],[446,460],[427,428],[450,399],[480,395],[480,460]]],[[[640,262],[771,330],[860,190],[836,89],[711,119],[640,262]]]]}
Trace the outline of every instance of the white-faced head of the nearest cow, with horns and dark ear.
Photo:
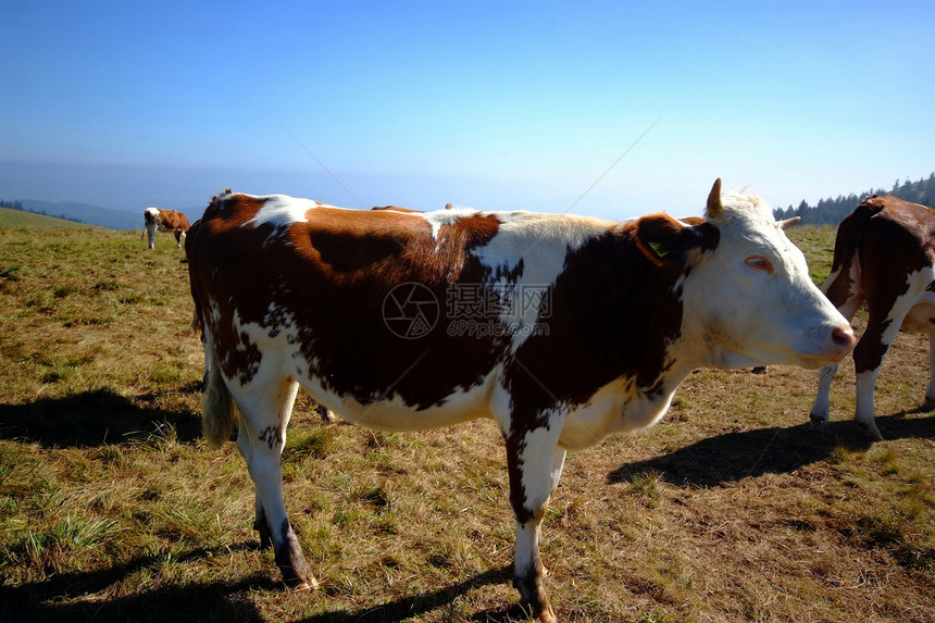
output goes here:
{"type": "Polygon", "coordinates": [[[809,277],[802,252],[769,207],[714,183],[707,221],[643,219],[636,237],[656,263],[684,275],[682,338],[709,365],[840,361],[855,345],[848,322],[809,277]]]}

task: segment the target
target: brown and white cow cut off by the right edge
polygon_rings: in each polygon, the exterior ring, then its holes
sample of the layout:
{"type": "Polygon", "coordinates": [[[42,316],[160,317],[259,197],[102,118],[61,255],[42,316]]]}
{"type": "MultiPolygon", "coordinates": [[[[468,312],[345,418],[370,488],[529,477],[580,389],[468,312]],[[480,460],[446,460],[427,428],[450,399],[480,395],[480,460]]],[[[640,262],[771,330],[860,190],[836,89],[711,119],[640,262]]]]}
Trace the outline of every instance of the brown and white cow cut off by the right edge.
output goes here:
{"type": "MultiPolygon", "coordinates": [[[[874,195],[842,221],[832,262],[822,285],[832,304],[850,320],[867,301],[867,329],[853,349],[853,419],[868,435],[882,439],[873,419],[873,394],[883,358],[900,328],[928,334],[928,363],[935,372],[935,211],[874,195]]],[[[836,371],[837,364],[821,371],[812,428],[827,428],[828,391],[836,371]]],[[[935,406],[935,375],[925,403],[935,406]]]]}

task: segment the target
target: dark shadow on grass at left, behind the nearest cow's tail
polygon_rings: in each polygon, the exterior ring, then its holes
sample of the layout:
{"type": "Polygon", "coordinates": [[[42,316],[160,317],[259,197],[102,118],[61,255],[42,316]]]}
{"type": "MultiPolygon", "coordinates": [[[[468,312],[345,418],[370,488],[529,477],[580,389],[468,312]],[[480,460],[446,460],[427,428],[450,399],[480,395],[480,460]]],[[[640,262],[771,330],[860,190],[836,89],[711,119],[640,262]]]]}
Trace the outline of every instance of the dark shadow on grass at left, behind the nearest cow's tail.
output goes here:
{"type": "MultiPolygon", "coordinates": [[[[200,393],[191,383],[183,393],[200,393]]],[[[17,439],[47,448],[95,447],[146,440],[172,434],[189,443],[201,434],[197,413],[167,411],[157,396],[130,399],[110,389],[96,389],[62,398],[39,398],[28,404],[0,404],[0,439],[17,439]]]]}

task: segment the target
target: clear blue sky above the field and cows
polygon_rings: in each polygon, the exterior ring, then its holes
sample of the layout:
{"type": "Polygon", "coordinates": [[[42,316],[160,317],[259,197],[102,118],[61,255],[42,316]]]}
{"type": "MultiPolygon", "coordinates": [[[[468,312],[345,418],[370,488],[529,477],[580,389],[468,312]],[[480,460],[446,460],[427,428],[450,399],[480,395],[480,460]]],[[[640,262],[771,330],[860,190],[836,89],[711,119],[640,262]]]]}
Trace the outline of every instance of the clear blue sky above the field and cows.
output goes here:
{"type": "Polygon", "coordinates": [[[5,0],[0,198],[619,219],[935,170],[931,0],[648,4],[5,0]]]}

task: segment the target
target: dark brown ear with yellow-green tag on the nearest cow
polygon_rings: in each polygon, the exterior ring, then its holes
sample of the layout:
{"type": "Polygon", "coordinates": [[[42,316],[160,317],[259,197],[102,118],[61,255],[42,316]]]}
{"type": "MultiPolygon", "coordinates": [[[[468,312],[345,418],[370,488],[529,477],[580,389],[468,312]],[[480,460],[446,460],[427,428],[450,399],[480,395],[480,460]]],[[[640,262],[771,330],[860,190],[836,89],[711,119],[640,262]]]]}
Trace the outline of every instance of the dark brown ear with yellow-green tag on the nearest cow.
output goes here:
{"type": "Polygon", "coordinates": [[[718,228],[710,223],[688,226],[668,214],[649,214],[636,223],[636,246],[659,266],[684,266],[691,249],[716,246],[718,228]]]}

